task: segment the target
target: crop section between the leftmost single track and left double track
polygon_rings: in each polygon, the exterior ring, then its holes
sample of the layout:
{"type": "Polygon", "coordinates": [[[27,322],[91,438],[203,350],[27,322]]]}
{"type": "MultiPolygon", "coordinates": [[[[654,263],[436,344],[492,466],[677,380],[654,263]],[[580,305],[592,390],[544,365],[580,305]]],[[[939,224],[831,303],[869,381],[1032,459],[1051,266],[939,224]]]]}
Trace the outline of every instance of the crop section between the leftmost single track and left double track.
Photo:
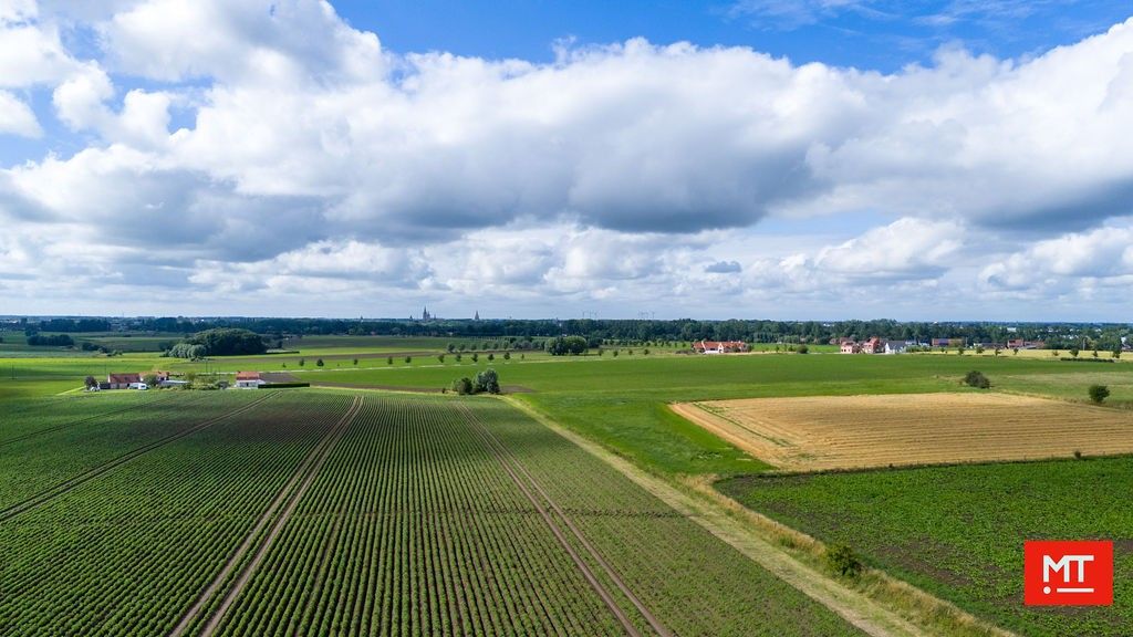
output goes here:
{"type": "MultiPolygon", "coordinates": [[[[0,635],[168,634],[350,402],[208,398],[164,416],[233,415],[0,520],[0,635]]],[[[54,445],[82,453],[80,438],[54,445]]]]}

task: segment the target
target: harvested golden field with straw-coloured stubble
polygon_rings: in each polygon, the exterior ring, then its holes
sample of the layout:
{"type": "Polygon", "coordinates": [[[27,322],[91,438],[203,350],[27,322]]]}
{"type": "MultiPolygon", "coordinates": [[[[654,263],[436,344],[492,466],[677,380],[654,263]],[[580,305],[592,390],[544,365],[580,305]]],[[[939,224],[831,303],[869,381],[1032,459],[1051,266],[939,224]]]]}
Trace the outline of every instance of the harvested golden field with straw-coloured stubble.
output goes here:
{"type": "Polygon", "coordinates": [[[781,470],[1133,453],[1133,414],[1002,393],[756,398],[673,405],[781,470]]]}

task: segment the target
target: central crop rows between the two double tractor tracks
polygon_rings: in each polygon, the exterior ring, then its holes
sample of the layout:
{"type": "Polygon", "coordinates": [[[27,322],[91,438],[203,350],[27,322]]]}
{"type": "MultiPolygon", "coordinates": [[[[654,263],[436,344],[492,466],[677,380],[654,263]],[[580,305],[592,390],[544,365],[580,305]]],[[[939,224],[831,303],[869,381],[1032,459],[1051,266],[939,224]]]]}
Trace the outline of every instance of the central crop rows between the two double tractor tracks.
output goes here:
{"type": "Polygon", "coordinates": [[[221,634],[621,631],[452,401],[369,405],[221,634]]]}

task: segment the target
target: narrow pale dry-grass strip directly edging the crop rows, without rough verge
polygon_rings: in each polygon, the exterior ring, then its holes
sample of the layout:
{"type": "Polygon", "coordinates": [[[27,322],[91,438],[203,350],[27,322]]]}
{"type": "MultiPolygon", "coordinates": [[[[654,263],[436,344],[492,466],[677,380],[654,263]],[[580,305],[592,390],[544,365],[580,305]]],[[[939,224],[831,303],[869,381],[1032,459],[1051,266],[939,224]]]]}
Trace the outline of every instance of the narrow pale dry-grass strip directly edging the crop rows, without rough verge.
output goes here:
{"type": "MultiPolygon", "coordinates": [[[[614,467],[678,512],[688,516],[689,519],[727,542],[783,581],[830,609],[871,637],[920,637],[929,634],[862,593],[851,589],[798,561],[776,543],[775,537],[769,537],[761,528],[736,519],[733,512],[719,502],[713,501],[704,494],[685,493],[662,478],[639,469],[629,460],[559,425],[522,401],[509,398],[503,400],[531,415],[559,435],[614,467]]],[[[945,602],[932,601],[938,602],[939,609],[954,610],[945,602]]],[[[934,605],[934,609],[936,608],[937,605],[934,605]]]]}

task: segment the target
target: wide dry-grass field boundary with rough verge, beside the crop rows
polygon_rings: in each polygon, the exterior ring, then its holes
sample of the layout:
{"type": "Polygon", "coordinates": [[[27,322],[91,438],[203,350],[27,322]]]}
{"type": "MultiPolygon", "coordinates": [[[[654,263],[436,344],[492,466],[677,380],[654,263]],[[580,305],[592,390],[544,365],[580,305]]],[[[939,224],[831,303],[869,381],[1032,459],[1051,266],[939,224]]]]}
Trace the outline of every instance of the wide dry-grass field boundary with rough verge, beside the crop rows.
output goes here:
{"type": "MultiPolygon", "coordinates": [[[[681,483],[674,485],[638,468],[625,458],[568,430],[553,418],[521,400],[510,397],[503,397],[500,400],[517,407],[552,431],[605,461],[786,584],[825,605],[872,637],[935,635],[934,629],[928,628],[928,626],[934,626],[931,620],[939,614],[957,618],[957,625],[969,630],[972,627],[980,627],[982,632],[977,632],[979,635],[995,635],[999,637],[1011,635],[1010,632],[982,625],[982,622],[959,608],[928,593],[923,593],[912,585],[885,576],[895,585],[900,585],[900,589],[906,593],[914,592],[920,597],[919,601],[923,606],[913,612],[895,609],[889,600],[893,595],[892,588],[859,591],[832,576],[820,572],[817,568],[802,561],[800,557],[789,551],[781,536],[769,533],[768,528],[761,525],[752,525],[751,519],[746,519],[747,516],[743,513],[749,511],[742,504],[731,502],[723,495],[714,498],[700,489],[696,489],[692,484],[681,483]],[[722,502],[722,500],[727,500],[729,503],[722,502]]],[[[753,515],[758,516],[758,513],[753,515]]],[[[783,527],[777,523],[772,524],[796,533],[794,529],[790,529],[790,527],[783,527]]],[[[957,630],[952,634],[966,635],[969,632],[957,630]]]]}

